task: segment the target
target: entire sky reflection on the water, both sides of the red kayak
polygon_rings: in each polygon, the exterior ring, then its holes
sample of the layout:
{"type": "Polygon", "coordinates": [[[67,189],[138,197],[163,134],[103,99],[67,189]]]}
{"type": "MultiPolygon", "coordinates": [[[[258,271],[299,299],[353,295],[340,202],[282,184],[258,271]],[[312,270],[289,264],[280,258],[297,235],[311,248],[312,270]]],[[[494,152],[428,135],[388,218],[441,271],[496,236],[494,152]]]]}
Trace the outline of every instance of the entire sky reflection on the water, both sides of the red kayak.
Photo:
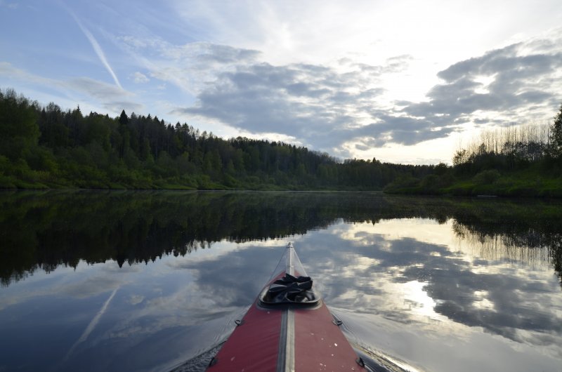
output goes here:
{"type": "Polygon", "coordinates": [[[562,295],[541,248],[454,218],[334,220],[147,264],[60,266],[0,288],[1,370],[166,370],[226,338],[288,241],[353,343],[426,371],[557,371],[562,295]]]}

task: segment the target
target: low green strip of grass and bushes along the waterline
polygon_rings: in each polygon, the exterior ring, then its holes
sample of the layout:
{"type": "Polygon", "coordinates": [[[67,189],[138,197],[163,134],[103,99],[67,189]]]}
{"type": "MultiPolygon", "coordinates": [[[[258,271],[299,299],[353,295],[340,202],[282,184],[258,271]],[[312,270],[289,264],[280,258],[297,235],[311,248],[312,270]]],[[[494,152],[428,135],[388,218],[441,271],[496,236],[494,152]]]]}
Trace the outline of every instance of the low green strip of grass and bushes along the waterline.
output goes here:
{"type": "MultiPolygon", "coordinates": [[[[140,180],[139,180],[140,181],[140,180]]],[[[280,185],[257,177],[230,178],[230,182],[211,180],[206,175],[191,178],[161,178],[140,182],[115,182],[101,180],[17,178],[0,175],[0,190],[259,190],[259,191],[384,191],[387,194],[441,195],[441,196],[495,196],[562,198],[562,177],[544,175],[533,171],[507,173],[484,171],[472,178],[453,178],[446,175],[429,175],[425,178],[401,178],[387,185],[384,190],[366,187],[334,187],[333,185],[280,185]]]]}

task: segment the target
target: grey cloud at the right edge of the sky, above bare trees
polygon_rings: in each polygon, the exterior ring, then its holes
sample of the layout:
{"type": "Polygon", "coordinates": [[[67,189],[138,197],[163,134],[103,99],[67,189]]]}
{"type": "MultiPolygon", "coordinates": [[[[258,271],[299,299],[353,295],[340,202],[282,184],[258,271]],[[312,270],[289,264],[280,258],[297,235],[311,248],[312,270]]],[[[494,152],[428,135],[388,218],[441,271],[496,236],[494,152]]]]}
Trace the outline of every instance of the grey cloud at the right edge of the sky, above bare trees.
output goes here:
{"type": "Polygon", "coordinates": [[[556,107],[561,71],[562,48],[551,40],[512,44],[447,67],[438,73],[444,83],[431,88],[429,101],[410,103],[403,112],[430,120],[443,115],[450,122],[475,112],[506,121],[537,119],[556,107]]]}

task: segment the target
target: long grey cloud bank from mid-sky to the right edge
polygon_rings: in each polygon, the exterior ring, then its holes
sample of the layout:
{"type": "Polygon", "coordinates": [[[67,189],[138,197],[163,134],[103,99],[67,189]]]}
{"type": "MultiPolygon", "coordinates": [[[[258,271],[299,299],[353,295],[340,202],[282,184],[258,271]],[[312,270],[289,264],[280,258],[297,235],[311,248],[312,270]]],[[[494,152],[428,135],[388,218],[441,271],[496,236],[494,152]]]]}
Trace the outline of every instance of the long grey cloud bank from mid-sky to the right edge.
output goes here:
{"type": "MultiPolygon", "coordinates": [[[[212,56],[218,51],[207,45],[204,56],[218,60],[212,56]]],[[[176,113],[250,133],[292,135],[330,152],[350,141],[358,150],[416,145],[461,131],[463,124],[481,120],[473,116],[477,112],[495,113],[507,122],[549,112],[560,86],[554,77],[562,70],[556,44],[544,39],[513,44],[439,72],[443,83],[429,89],[426,102],[384,107],[379,79],[403,72],[411,55],[389,58],[385,65],[342,59],[337,66],[276,66],[256,61],[257,56],[241,58],[229,48],[223,61],[234,65],[204,84],[195,105],[176,113]]]]}

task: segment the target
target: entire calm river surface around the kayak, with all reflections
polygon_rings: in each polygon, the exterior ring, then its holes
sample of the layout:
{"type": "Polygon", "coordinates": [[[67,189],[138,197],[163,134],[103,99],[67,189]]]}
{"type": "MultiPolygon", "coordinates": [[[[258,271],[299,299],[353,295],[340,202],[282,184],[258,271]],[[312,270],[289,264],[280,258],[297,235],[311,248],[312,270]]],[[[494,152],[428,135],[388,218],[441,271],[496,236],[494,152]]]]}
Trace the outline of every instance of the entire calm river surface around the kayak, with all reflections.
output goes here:
{"type": "Polygon", "coordinates": [[[562,370],[560,201],[5,192],[0,207],[0,371],[197,370],[289,241],[355,347],[418,371],[562,370]]]}

